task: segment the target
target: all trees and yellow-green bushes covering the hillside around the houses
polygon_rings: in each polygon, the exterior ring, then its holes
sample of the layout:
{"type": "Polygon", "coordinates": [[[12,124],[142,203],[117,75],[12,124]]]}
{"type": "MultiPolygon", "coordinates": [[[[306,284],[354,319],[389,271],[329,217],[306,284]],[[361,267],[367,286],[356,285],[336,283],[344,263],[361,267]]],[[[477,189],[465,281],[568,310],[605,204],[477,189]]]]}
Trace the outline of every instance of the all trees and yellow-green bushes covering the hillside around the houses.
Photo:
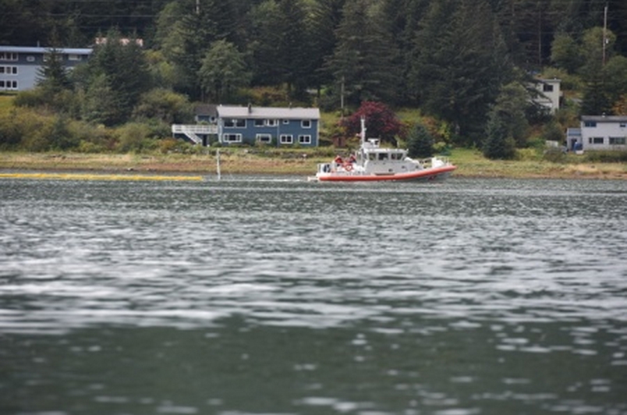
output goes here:
{"type": "Polygon", "coordinates": [[[581,114],[627,113],[627,3],[619,0],[5,6],[1,44],[85,47],[107,38],[72,72],[51,49],[36,89],[1,97],[5,151],[202,154],[170,138],[171,123],[192,123],[201,102],[317,106],[330,145],[352,134],[343,116],[376,103],[399,123],[388,145],[564,162],[545,141],[562,143],[581,114]],[[540,77],[562,79],[554,115],[534,104],[540,77]]]}

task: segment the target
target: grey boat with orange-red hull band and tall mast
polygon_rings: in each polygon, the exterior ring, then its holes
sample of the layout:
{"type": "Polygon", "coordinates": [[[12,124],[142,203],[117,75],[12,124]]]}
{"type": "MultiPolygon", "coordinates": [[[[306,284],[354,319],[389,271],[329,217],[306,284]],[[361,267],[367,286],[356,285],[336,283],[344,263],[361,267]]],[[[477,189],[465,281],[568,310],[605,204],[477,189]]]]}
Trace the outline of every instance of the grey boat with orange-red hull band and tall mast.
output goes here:
{"type": "Polygon", "coordinates": [[[319,163],[311,181],[381,182],[387,180],[442,180],[457,167],[446,157],[415,160],[403,148],[382,148],[379,139],[366,139],[366,120],[362,118],[360,146],[349,159],[336,157],[333,162],[319,163]]]}

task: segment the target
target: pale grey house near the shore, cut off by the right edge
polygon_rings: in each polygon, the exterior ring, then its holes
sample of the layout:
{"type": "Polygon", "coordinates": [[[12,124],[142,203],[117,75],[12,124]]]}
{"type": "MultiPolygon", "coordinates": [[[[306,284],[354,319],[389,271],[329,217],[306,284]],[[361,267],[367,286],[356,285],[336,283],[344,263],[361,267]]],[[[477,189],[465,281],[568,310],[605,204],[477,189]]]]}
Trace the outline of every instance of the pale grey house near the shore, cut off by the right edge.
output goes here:
{"type": "Polygon", "coordinates": [[[582,116],[566,132],[569,150],[627,150],[627,116],[582,116]]]}

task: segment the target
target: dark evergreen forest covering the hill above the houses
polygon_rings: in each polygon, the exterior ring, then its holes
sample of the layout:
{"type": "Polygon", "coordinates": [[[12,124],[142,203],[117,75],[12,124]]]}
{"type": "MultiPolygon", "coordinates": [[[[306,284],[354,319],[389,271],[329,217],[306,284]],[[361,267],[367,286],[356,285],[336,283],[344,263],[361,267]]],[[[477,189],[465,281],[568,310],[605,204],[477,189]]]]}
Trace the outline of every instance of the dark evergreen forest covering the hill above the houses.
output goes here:
{"type": "MultiPolygon", "coordinates": [[[[419,107],[472,136],[499,97],[520,97],[505,86],[542,73],[579,91],[585,113],[627,106],[625,0],[0,0],[0,10],[3,45],[85,47],[111,29],[142,38],[134,73],[147,68],[150,87],[194,101],[281,85],[294,102],[318,91],[323,109],[340,93],[353,108],[419,107]]],[[[82,86],[116,88],[111,77],[82,86]]]]}

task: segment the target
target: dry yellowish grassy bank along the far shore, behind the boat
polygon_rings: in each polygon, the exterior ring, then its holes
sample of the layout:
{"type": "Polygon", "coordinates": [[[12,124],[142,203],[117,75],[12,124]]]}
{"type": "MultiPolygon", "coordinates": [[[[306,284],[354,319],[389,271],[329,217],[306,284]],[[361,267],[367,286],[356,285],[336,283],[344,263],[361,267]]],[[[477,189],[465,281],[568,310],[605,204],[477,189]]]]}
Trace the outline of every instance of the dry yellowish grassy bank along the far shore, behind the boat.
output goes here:
{"type": "MultiPolygon", "coordinates": [[[[75,152],[0,152],[0,173],[11,171],[73,171],[125,174],[217,173],[314,175],[316,164],[346,149],[204,148],[194,154],[88,154],[75,152]]],[[[617,157],[612,155],[611,157],[617,157]]],[[[515,160],[490,160],[477,150],[454,149],[449,156],[457,178],[627,179],[627,163],[603,161],[601,155],[520,155],[515,160]]]]}

